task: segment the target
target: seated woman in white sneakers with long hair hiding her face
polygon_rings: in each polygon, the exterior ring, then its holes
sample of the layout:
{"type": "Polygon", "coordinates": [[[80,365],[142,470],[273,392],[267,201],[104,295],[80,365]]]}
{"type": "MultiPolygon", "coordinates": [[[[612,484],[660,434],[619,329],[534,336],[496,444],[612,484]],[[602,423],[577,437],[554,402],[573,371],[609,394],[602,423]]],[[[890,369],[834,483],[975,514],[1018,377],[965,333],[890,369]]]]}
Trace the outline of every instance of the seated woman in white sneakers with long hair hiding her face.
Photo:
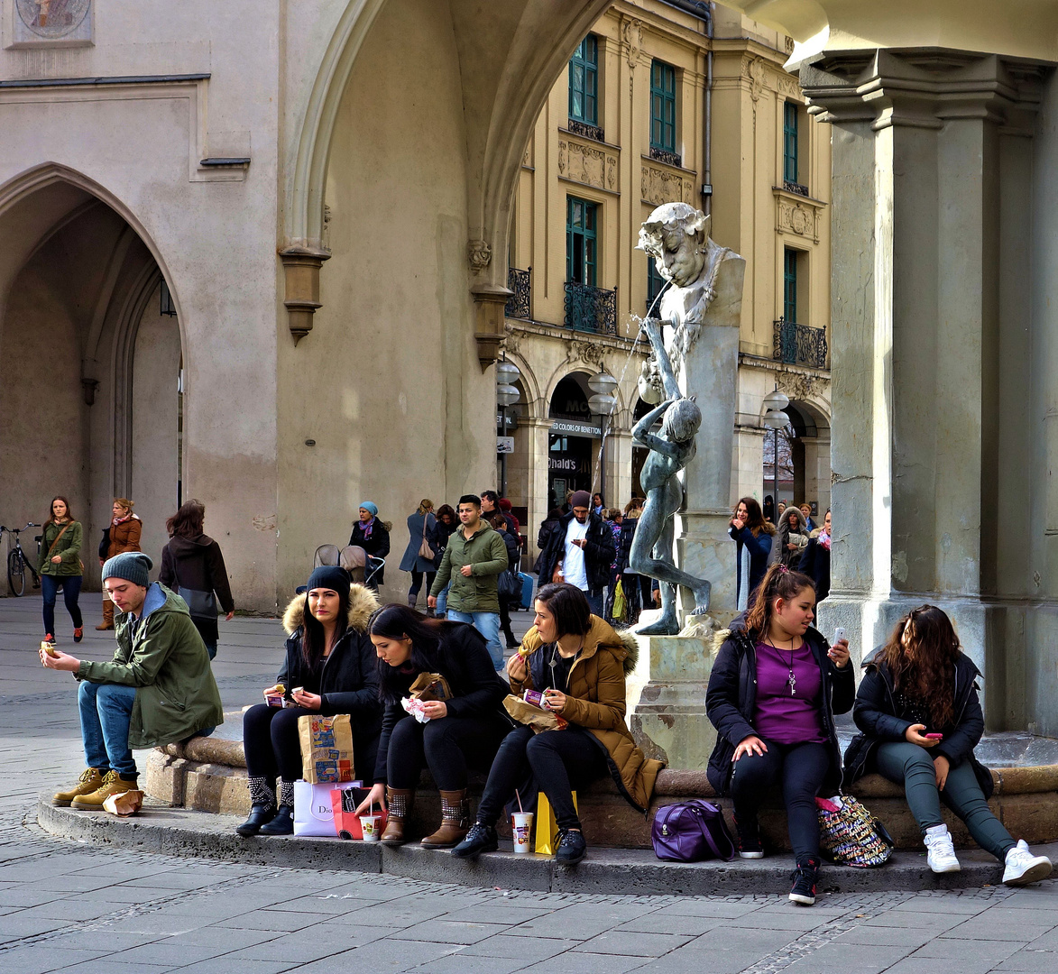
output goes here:
{"type": "Polygon", "coordinates": [[[845,752],[850,783],[877,771],[902,785],[934,872],[957,872],[944,802],[974,842],[1004,864],[1003,882],[1024,886],[1051,875],[1051,860],[1015,842],[988,808],[992,778],[974,756],[985,721],[981,676],[951,620],[935,605],[905,615],[863,663],[853,719],[861,731],[845,752]]]}

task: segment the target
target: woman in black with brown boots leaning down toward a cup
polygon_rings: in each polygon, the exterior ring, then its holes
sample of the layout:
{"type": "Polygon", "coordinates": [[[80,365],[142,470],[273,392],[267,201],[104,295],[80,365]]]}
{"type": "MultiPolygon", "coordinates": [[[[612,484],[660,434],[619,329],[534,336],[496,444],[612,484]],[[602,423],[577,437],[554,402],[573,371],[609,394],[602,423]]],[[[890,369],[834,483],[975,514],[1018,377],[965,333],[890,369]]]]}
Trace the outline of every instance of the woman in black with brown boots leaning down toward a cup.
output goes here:
{"type": "Polygon", "coordinates": [[[426,767],[441,793],[441,824],[422,845],[450,849],[470,826],[467,769],[488,772],[511,730],[503,703],[507,686],[493,668],[485,637],[466,623],[387,605],[371,617],[368,631],[379,657],[385,712],[375,787],[361,808],[373,803],[387,809],[382,841],[403,844],[404,823],[426,767]],[[443,692],[434,693],[435,699],[423,703],[425,723],[402,704],[422,674],[440,674],[451,692],[448,699],[436,699],[443,692]]]}

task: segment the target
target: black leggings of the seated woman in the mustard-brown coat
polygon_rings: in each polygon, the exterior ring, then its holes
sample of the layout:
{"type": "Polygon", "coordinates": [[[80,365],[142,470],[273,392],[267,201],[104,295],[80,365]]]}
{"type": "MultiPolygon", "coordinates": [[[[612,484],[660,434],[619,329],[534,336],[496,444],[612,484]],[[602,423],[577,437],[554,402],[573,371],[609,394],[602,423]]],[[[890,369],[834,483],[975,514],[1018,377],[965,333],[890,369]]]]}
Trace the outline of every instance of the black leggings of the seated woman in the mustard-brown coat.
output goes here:
{"type": "Polygon", "coordinates": [[[607,770],[602,745],[581,728],[540,734],[517,728],[504,738],[492,762],[477,821],[495,825],[504,805],[514,798],[515,788],[523,806],[535,803],[539,789],[551,803],[560,829],[580,828],[572,792],[603,777],[607,770]]]}

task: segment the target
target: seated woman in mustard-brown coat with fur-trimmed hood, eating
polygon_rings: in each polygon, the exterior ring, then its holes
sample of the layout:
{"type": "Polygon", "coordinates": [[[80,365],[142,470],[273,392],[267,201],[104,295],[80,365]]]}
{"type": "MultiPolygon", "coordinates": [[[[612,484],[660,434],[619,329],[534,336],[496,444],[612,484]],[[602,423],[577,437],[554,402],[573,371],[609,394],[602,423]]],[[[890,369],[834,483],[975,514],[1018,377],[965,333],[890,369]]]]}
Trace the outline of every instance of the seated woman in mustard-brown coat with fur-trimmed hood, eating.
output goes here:
{"type": "MultiPolygon", "coordinates": [[[[555,860],[576,865],[586,845],[572,791],[609,773],[635,809],[645,813],[662,765],[647,759],[624,722],[624,678],[635,665],[636,643],[592,615],[584,592],[564,583],[536,593],[536,618],[522,648],[507,661],[511,693],[543,691],[543,706],[561,717],[561,730],[534,734],[519,727],[499,746],[477,810],[477,822],[453,856],[472,858],[497,848],[496,819],[514,790],[530,777],[547,795],[559,825],[555,860]]],[[[525,792],[523,792],[525,793],[525,792]]],[[[523,803],[525,798],[523,798],[523,803]]]]}

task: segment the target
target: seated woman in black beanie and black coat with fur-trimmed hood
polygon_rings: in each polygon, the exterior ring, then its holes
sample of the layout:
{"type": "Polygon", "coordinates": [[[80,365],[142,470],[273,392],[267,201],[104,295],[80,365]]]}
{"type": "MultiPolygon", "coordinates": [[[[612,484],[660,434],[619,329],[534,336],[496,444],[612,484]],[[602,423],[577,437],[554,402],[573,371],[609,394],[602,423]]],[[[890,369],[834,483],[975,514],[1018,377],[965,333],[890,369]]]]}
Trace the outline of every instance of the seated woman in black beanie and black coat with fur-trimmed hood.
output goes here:
{"type": "MultiPolygon", "coordinates": [[[[297,718],[348,714],[353,768],[375,769],[382,721],[379,674],[367,624],[379,607],[366,586],[349,584],[342,568],[325,565],[309,576],[305,594],[287,606],[287,655],[276,679],[282,707],[258,703],[242,716],[252,809],[240,835],[289,835],[294,831],[294,782],[302,777],[297,718]],[[276,777],[279,787],[276,789],[276,777]]],[[[271,686],[264,696],[276,691],[271,686]]]]}

